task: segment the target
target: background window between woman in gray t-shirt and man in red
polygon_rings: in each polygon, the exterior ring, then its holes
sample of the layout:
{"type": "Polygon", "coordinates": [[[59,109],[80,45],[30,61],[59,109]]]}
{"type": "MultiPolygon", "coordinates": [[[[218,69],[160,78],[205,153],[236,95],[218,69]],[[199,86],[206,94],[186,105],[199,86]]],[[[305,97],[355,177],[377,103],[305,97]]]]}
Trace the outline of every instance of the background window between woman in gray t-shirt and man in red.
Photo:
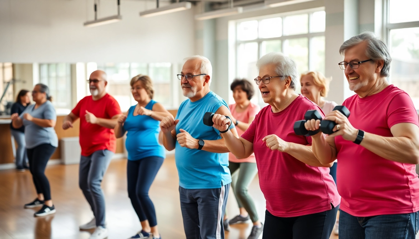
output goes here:
{"type": "Polygon", "coordinates": [[[70,64],[39,64],[39,82],[49,87],[52,104],[57,110],[71,109],[70,64]]]}

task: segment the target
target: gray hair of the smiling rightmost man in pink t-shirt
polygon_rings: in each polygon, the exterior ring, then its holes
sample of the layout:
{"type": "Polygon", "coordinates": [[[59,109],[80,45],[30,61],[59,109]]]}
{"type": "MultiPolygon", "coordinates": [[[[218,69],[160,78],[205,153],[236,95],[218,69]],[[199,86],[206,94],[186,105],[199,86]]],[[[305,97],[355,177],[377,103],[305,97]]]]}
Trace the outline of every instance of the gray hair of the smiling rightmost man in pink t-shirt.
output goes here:
{"type": "Polygon", "coordinates": [[[383,60],[383,68],[381,69],[381,76],[390,76],[390,63],[391,56],[388,52],[387,45],[373,32],[366,31],[358,36],[352,36],[349,40],[345,41],[339,49],[339,53],[344,56],[345,51],[352,46],[356,46],[362,42],[367,42],[367,51],[365,54],[373,61],[383,60]]]}

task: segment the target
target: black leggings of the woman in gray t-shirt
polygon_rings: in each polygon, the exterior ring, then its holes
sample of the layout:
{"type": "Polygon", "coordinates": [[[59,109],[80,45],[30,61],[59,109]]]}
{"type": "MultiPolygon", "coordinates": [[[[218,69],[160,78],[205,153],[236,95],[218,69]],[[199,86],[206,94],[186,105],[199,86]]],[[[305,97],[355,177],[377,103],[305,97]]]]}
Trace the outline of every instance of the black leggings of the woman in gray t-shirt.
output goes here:
{"type": "Polygon", "coordinates": [[[51,200],[51,190],[49,182],[45,176],[45,167],[49,158],[54,153],[56,147],[51,144],[41,144],[33,149],[26,149],[29,160],[29,170],[34,180],[36,193],[44,194],[44,200],[51,200]]]}

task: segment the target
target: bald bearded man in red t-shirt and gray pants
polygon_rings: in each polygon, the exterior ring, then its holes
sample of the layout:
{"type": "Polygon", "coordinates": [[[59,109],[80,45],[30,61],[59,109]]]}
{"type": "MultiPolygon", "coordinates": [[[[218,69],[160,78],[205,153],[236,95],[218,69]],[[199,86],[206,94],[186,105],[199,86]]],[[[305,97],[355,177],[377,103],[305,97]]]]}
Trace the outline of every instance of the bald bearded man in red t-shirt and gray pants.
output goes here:
{"type": "Polygon", "coordinates": [[[115,153],[114,128],[122,114],[118,102],[106,93],[107,84],[105,72],[92,72],[89,78],[91,95],[80,100],[62,123],[63,129],[72,128],[72,123],[80,118],[79,185],[95,216],[89,223],[81,225],[80,229],[96,228],[90,239],[103,239],[108,236],[101,182],[115,153]]]}

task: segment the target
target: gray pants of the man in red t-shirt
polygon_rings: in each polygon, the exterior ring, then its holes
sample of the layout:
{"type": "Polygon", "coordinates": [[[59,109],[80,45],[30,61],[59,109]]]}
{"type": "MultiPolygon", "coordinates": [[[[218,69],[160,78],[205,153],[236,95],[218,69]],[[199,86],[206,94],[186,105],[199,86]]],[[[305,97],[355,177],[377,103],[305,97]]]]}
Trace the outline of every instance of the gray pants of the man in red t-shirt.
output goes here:
{"type": "Polygon", "coordinates": [[[79,186],[92,208],[96,226],[105,227],[105,197],[101,183],[113,155],[113,152],[104,149],[80,157],[79,186]]]}

